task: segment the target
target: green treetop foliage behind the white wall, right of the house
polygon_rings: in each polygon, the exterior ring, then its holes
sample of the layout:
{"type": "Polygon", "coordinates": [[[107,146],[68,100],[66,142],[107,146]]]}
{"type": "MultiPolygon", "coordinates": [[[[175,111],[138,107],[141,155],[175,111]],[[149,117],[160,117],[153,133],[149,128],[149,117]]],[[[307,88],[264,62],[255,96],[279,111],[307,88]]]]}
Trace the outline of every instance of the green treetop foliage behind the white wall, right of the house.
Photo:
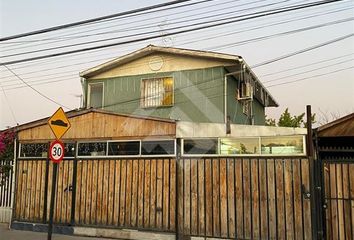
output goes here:
{"type": "MultiPolygon", "coordinates": [[[[280,115],[279,120],[276,124],[276,120],[273,118],[267,118],[266,116],[266,125],[267,126],[278,126],[278,127],[306,127],[307,123],[304,120],[305,113],[299,115],[291,115],[289,109],[286,108],[285,111],[280,115]]],[[[315,123],[316,113],[312,114],[311,122],[315,123]]]]}

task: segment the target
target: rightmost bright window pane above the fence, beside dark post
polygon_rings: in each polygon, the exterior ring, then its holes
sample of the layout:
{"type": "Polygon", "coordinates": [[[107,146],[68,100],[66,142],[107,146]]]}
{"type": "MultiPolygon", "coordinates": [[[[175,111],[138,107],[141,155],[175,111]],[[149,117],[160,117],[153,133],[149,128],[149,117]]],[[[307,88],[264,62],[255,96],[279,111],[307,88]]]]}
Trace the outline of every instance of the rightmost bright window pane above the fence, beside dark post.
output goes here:
{"type": "Polygon", "coordinates": [[[262,154],[303,154],[303,136],[262,137],[262,154]]]}

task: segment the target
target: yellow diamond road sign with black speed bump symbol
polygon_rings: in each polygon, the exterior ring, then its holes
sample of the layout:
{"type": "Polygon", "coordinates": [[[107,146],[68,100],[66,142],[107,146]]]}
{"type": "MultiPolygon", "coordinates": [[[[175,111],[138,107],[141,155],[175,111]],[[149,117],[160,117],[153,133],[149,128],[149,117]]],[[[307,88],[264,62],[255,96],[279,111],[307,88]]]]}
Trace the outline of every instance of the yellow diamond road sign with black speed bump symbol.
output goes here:
{"type": "Polygon", "coordinates": [[[61,107],[53,114],[51,118],[49,118],[48,124],[58,140],[71,127],[69,119],[66,117],[65,112],[61,107]]]}

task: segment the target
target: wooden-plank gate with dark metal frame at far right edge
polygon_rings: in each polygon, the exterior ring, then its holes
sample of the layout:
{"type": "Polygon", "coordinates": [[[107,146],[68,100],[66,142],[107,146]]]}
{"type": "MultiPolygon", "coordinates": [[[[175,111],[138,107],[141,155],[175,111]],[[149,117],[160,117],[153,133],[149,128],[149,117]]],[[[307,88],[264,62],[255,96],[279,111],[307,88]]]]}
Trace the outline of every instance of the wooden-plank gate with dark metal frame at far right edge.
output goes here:
{"type": "Polygon", "coordinates": [[[354,162],[323,161],[326,239],[354,239],[354,162]]]}

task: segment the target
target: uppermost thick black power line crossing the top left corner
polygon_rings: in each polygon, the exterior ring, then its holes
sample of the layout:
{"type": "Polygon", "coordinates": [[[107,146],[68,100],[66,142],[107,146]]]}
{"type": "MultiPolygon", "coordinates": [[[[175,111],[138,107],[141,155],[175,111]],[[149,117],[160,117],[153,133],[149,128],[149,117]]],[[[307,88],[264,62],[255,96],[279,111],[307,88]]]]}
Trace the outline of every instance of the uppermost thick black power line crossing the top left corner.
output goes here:
{"type": "MultiPolygon", "coordinates": [[[[92,19],[78,21],[78,22],[74,22],[74,23],[58,25],[55,27],[44,28],[44,29],[37,30],[37,31],[32,31],[32,32],[21,33],[21,34],[17,34],[17,35],[8,36],[8,37],[3,37],[3,38],[0,38],[0,42],[12,40],[12,39],[23,38],[23,37],[28,37],[28,36],[33,36],[33,35],[38,35],[38,34],[42,34],[42,33],[53,32],[53,31],[66,29],[66,28],[72,28],[72,27],[81,26],[81,25],[88,24],[88,23],[98,22],[98,21],[102,21],[102,20],[106,20],[106,19],[110,19],[110,18],[114,18],[114,17],[126,16],[126,15],[130,15],[133,13],[144,12],[144,11],[152,10],[155,8],[162,8],[162,7],[171,6],[171,5],[175,5],[175,4],[179,4],[179,3],[183,3],[183,2],[189,2],[189,1],[191,1],[191,0],[175,0],[175,1],[170,1],[167,3],[161,3],[161,4],[138,8],[138,9],[134,9],[134,10],[130,10],[130,11],[106,15],[106,16],[102,16],[102,17],[98,17],[98,18],[92,18],[92,19]]],[[[208,1],[212,1],[212,0],[208,0],[208,1]]]]}

